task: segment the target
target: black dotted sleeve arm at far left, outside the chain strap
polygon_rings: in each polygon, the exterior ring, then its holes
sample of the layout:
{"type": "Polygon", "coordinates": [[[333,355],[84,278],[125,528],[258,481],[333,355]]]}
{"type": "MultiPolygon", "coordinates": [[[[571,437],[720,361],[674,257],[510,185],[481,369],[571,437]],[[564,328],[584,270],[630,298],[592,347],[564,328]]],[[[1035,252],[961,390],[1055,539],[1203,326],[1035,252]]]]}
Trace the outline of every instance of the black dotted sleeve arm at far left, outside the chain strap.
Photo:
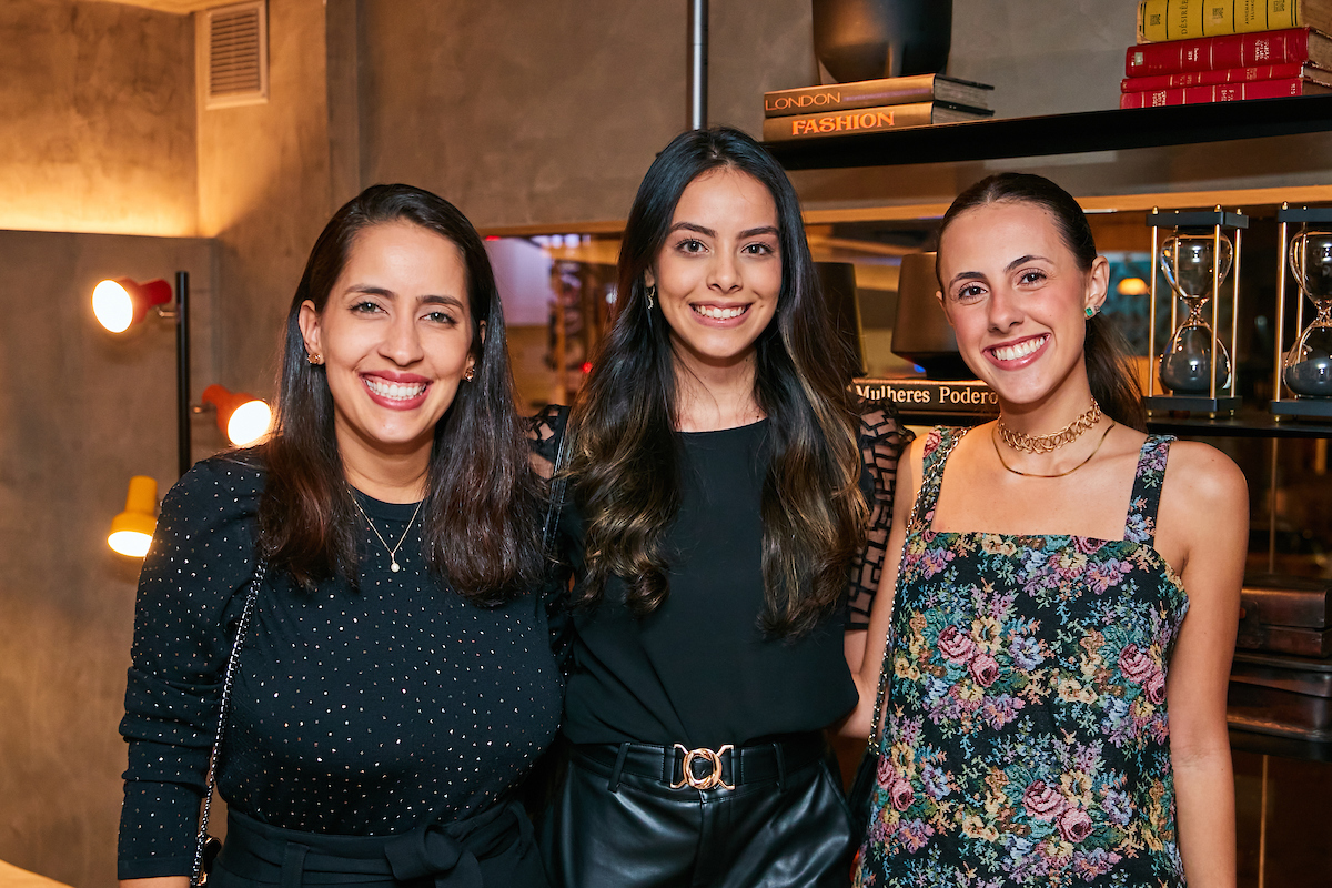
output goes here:
{"type": "Polygon", "coordinates": [[[127,881],[190,872],[230,654],[225,627],[240,615],[254,568],[261,489],[257,469],[212,459],[163,501],[139,579],[120,723],[129,750],[117,875],[127,881]]]}

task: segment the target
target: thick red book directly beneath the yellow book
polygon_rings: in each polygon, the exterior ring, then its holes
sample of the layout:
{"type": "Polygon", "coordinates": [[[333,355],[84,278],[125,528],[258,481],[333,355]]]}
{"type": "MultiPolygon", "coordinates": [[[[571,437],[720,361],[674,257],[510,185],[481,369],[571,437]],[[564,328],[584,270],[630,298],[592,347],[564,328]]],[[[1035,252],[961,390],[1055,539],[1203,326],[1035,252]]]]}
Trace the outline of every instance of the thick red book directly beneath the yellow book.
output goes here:
{"type": "Polygon", "coordinates": [[[1130,77],[1175,75],[1185,71],[1221,71],[1312,63],[1332,68],[1332,39],[1309,28],[1199,37],[1130,47],[1124,73],[1130,77]]]}

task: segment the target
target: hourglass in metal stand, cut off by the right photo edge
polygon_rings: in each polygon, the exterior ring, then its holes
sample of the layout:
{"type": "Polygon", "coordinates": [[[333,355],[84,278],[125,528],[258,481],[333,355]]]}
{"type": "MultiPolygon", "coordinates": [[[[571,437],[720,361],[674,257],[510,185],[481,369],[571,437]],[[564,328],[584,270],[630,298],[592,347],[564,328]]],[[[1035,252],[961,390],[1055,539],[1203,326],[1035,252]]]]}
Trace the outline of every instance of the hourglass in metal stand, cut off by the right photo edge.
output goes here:
{"type": "Polygon", "coordinates": [[[1276,269],[1276,370],[1268,410],[1277,418],[1332,417],[1332,209],[1281,204],[1276,269]],[[1293,228],[1292,228],[1293,226],[1293,228]],[[1289,288],[1288,281],[1295,286],[1289,288]],[[1295,290],[1295,339],[1285,333],[1295,290]],[[1313,318],[1305,325],[1305,306],[1313,318]]]}

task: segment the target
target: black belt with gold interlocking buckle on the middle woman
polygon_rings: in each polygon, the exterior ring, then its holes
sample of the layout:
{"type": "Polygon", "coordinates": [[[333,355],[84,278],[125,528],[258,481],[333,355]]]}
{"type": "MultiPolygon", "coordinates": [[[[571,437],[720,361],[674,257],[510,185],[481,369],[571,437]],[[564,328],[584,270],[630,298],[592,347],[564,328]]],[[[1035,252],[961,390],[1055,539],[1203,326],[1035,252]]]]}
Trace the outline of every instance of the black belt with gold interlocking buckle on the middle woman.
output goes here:
{"type": "Polygon", "coordinates": [[[734,789],[757,783],[781,787],[789,774],[817,763],[825,751],[823,735],[810,731],[719,750],[689,750],[679,743],[581,743],[573,746],[571,755],[610,768],[609,788],[614,792],[621,774],[661,780],[671,789],[734,789]]]}

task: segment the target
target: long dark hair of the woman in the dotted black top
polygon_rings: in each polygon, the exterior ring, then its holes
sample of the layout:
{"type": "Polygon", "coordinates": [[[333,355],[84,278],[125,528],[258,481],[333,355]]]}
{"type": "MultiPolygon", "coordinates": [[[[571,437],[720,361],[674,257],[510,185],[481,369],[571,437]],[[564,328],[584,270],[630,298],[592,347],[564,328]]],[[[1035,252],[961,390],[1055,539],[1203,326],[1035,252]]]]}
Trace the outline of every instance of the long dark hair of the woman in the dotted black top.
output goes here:
{"type": "Polygon", "coordinates": [[[530,588],[543,570],[535,538],[541,482],[514,407],[503,312],[485,245],[453,204],[420,188],[365,189],[314,242],[286,316],[276,430],[260,451],[268,465],[260,545],[302,586],[333,575],[357,583],[358,513],[334,435],[333,394],[324,367],[306,358],[298,318],[306,300],[324,312],[357,236],[393,222],[442,236],[466,266],[474,377],[458,386],[434,427],[422,550],[438,579],[474,603],[497,604],[530,588]]]}

